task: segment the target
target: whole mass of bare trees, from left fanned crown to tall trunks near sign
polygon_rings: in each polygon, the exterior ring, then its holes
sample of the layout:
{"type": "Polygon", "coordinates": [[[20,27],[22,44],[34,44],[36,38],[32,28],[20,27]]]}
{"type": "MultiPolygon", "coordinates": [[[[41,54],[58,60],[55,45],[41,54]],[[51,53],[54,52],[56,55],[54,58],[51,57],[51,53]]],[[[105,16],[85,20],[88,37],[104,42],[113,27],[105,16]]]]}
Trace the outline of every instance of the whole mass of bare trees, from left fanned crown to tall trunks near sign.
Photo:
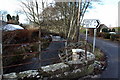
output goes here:
{"type": "MultiPolygon", "coordinates": [[[[21,1],[23,12],[26,14],[30,23],[34,26],[59,26],[66,38],[78,39],[79,26],[83,20],[86,9],[91,6],[89,1],[84,2],[56,2],[54,6],[45,6],[45,2],[21,1]],[[39,7],[42,4],[43,12],[39,7]]],[[[56,28],[55,28],[56,29],[56,28]]]]}

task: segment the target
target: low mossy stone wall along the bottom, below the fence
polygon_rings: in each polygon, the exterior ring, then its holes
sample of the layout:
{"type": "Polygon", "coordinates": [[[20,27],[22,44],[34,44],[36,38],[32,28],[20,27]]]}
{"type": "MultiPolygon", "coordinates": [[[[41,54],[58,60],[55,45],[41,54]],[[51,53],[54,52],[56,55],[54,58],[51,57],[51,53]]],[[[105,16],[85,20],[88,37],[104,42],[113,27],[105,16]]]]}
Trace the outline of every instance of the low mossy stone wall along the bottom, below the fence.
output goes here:
{"type": "Polygon", "coordinates": [[[39,70],[28,70],[19,73],[9,73],[3,75],[3,80],[9,79],[54,79],[54,78],[78,78],[89,75],[94,71],[95,56],[92,53],[87,54],[87,61],[78,59],[76,61],[68,61],[68,64],[57,63],[43,66],[39,70]]]}

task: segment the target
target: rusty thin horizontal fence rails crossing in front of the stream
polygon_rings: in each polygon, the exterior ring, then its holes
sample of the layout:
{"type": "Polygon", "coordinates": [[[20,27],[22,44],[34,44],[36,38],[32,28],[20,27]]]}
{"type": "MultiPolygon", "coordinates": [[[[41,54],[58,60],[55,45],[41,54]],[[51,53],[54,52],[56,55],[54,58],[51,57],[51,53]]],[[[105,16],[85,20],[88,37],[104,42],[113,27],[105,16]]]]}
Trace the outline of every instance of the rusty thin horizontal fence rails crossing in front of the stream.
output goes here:
{"type": "MultiPolygon", "coordinates": [[[[60,42],[66,42],[66,41],[50,41],[49,43],[60,43],[60,42]]],[[[75,42],[75,41],[68,41],[68,42],[75,42]]],[[[38,42],[34,42],[34,43],[24,43],[24,44],[4,44],[3,47],[12,47],[12,46],[22,46],[22,45],[30,45],[30,44],[37,44],[38,42]]],[[[52,52],[52,51],[59,51],[59,50],[66,50],[66,49],[70,49],[71,47],[61,47],[60,49],[51,49],[51,50],[43,50],[41,53],[44,54],[44,52],[52,52]]],[[[14,56],[21,56],[21,55],[33,55],[33,54],[39,54],[39,52],[29,52],[29,53],[22,53],[22,54],[10,54],[10,55],[2,55],[2,58],[9,58],[9,57],[14,57],[14,56]]],[[[46,62],[46,61],[50,61],[50,60],[57,60],[57,62],[60,62],[60,59],[57,57],[52,57],[49,59],[44,59],[44,60],[35,60],[35,61],[30,61],[30,62],[25,62],[25,63],[20,63],[20,64],[14,64],[14,65],[8,65],[8,66],[3,66],[3,69],[5,68],[11,68],[11,67],[18,67],[18,66],[23,66],[23,65],[28,65],[28,64],[32,64],[32,63],[40,63],[40,62],[46,62]]],[[[36,65],[38,66],[38,65],[36,65]]]]}

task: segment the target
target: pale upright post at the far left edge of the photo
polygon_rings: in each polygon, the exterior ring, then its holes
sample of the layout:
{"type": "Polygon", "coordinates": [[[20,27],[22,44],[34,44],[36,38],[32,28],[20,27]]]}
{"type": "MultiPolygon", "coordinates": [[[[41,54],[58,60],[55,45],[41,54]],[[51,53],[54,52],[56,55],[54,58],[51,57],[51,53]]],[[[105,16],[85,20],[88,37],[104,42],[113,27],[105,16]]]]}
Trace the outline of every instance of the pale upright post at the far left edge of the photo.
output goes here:
{"type": "MultiPolygon", "coordinates": [[[[0,14],[1,16],[1,14],[0,14]]],[[[3,21],[3,20],[2,20],[3,21]]],[[[2,65],[2,21],[0,23],[0,80],[2,80],[3,75],[3,65],[2,65]]]]}

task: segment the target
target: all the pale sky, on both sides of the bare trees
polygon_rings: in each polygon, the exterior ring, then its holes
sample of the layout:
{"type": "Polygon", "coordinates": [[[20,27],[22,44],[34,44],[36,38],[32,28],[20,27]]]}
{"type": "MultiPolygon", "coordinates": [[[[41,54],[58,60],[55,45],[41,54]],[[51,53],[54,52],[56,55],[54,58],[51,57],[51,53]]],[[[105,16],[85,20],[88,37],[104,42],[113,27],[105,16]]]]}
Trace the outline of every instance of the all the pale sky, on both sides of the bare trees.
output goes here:
{"type": "MultiPolygon", "coordinates": [[[[52,2],[52,0],[49,1],[52,2]]],[[[119,1],[101,0],[101,2],[92,2],[94,7],[87,9],[88,12],[85,13],[84,19],[99,19],[101,24],[105,24],[108,27],[117,27],[119,1]]],[[[15,11],[20,9],[20,0],[0,0],[0,10],[6,10],[11,15],[16,15],[15,11]]],[[[20,23],[26,23],[26,16],[22,14],[19,16],[20,23]]]]}

